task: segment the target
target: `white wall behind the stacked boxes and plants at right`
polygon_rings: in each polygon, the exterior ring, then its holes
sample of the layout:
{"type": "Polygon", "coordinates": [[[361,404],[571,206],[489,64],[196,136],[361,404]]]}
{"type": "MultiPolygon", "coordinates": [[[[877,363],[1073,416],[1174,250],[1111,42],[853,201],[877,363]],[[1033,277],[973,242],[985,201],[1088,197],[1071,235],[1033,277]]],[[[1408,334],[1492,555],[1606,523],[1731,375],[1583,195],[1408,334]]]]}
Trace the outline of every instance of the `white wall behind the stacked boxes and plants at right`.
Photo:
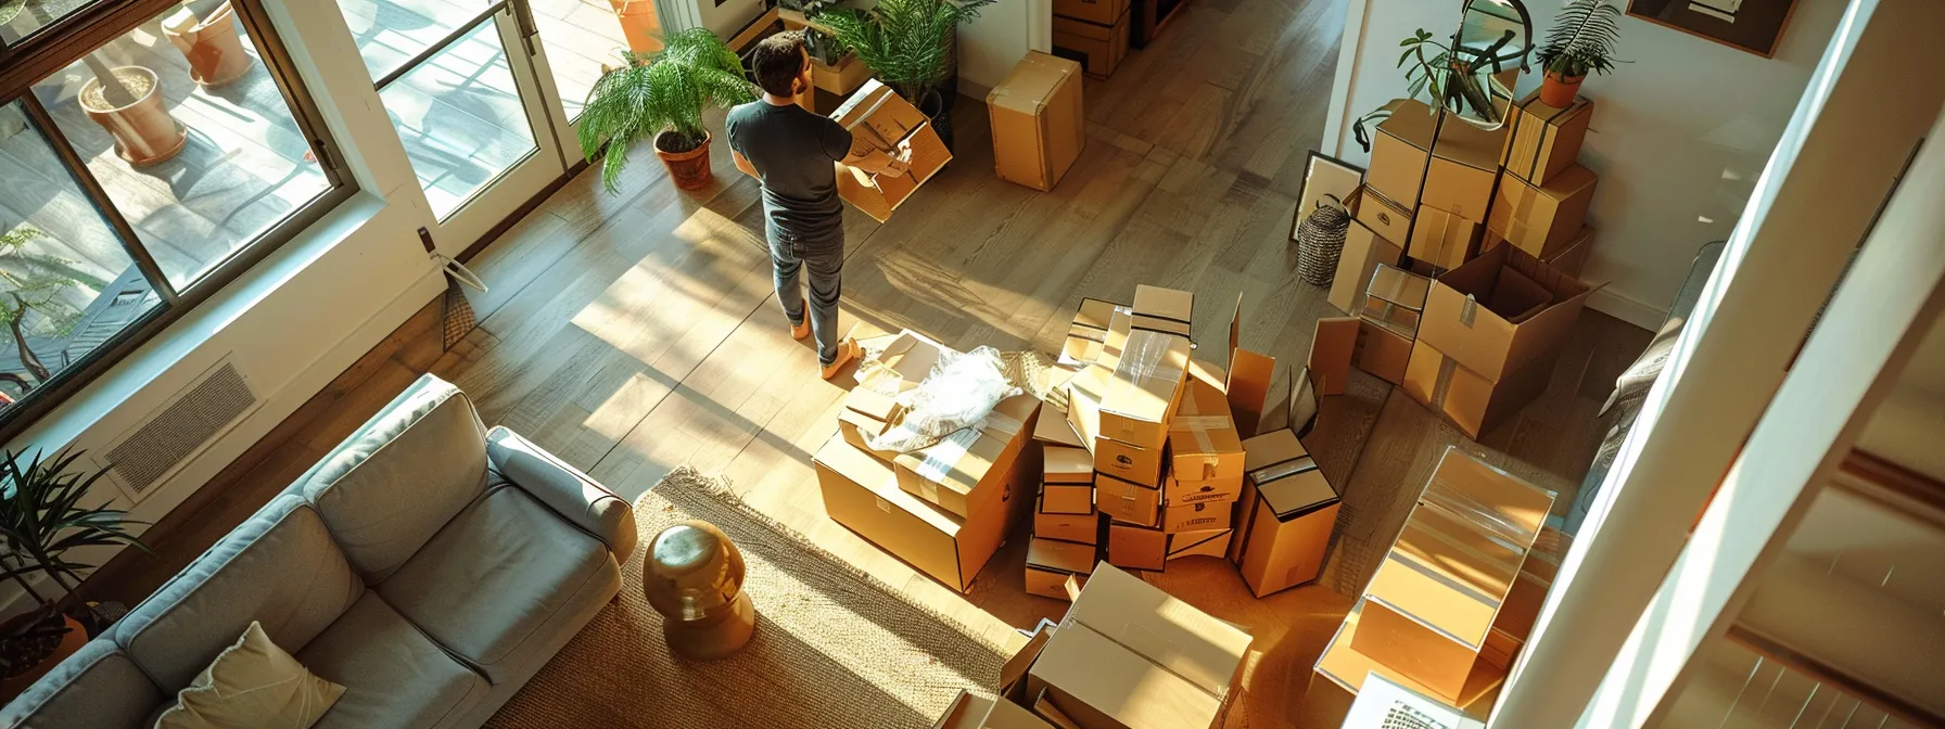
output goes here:
{"type": "MultiPolygon", "coordinates": [[[[1544,37],[1560,4],[1527,10],[1544,37]]],[[[1632,62],[1581,86],[1597,105],[1581,148],[1601,175],[1587,214],[1601,237],[1583,272],[1609,284],[1597,309],[1659,327],[1696,249],[1729,237],[1842,12],[1844,0],[1797,0],[1776,58],[1622,17],[1620,56],[1632,62]]],[[[1404,95],[1398,41],[1418,27],[1443,37],[1457,19],[1457,0],[1352,0],[1325,148],[1369,159],[1350,124],[1404,95]]],[[[1538,84],[1529,72],[1521,91],[1538,84]]]]}

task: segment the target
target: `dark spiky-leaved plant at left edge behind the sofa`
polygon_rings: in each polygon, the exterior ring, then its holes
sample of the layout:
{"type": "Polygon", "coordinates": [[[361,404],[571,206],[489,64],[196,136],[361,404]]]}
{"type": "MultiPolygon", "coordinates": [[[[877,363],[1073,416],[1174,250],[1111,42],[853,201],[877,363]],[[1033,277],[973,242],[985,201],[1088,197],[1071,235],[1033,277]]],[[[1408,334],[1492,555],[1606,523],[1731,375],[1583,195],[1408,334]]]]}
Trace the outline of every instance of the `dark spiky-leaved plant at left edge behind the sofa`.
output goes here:
{"type": "Polygon", "coordinates": [[[35,451],[23,461],[6,453],[0,461],[0,570],[33,599],[35,608],[0,622],[0,675],[6,688],[23,688],[39,675],[58,665],[88,642],[82,624],[68,616],[74,607],[74,585],[80,585],[80,564],[68,550],[80,546],[128,544],[148,552],[140,538],[128,533],[128,513],[109,507],[84,507],[82,500],[103,472],[82,474],[68,469],[82,453],[54,453],[43,459],[35,451]],[[35,589],[29,575],[43,573],[60,589],[47,595],[35,589]]]}

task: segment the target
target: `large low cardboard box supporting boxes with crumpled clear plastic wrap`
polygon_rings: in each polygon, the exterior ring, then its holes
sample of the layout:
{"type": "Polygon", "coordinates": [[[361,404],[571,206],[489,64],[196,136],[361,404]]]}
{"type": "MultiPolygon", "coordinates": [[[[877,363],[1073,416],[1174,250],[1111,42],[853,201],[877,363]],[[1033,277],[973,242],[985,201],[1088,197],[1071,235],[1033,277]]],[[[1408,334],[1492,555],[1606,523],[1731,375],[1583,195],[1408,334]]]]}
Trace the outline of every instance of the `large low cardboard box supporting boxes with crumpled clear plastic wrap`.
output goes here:
{"type": "MultiPolygon", "coordinates": [[[[972,519],[961,519],[926,503],[899,488],[891,465],[836,434],[811,463],[832,521],[961,593],[972,589],[1011,521],[1008,509],[974,509],[972,519]]],[[[1023,482],[1013,474],[996,484],[994,502],[1011,502],[1023,482]]]]}

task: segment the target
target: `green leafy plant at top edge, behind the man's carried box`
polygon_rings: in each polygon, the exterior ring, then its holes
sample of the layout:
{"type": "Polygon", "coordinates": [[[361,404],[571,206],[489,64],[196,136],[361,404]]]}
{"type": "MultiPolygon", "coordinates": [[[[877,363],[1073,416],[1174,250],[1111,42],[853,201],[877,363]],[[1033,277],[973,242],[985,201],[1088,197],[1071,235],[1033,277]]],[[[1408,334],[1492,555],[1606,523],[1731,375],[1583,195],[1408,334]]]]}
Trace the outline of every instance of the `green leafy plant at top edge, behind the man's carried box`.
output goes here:
{"type": "Polygon", "coordinates": [[[978,10],[994,2],[879,0],[871,10],[827,10],[821,25],[856,52],[879,82],[906,101],[920,103],[945,84],[953,29],[978,17],[978,10]]]}

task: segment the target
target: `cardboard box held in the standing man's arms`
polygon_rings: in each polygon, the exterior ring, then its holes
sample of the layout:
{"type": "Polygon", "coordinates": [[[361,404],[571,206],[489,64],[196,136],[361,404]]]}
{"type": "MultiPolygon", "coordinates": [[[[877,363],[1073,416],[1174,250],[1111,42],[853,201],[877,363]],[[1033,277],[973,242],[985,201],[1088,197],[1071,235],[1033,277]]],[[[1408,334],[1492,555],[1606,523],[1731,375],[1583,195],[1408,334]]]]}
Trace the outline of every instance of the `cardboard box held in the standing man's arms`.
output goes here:
{"type": "Polygon", "coordinates": [[[866,150],[895,152],[899,146],[912,150],[912,163],[902,173],[867,173],[836,163],[838,196],[877,222],[891,220],[891,212],[904,204],[912,191],[953,161],[953,152],[939,140],[926,115],[875,78],[846,99],[831,119],[852,132],[852,157],[866,150]]]}

